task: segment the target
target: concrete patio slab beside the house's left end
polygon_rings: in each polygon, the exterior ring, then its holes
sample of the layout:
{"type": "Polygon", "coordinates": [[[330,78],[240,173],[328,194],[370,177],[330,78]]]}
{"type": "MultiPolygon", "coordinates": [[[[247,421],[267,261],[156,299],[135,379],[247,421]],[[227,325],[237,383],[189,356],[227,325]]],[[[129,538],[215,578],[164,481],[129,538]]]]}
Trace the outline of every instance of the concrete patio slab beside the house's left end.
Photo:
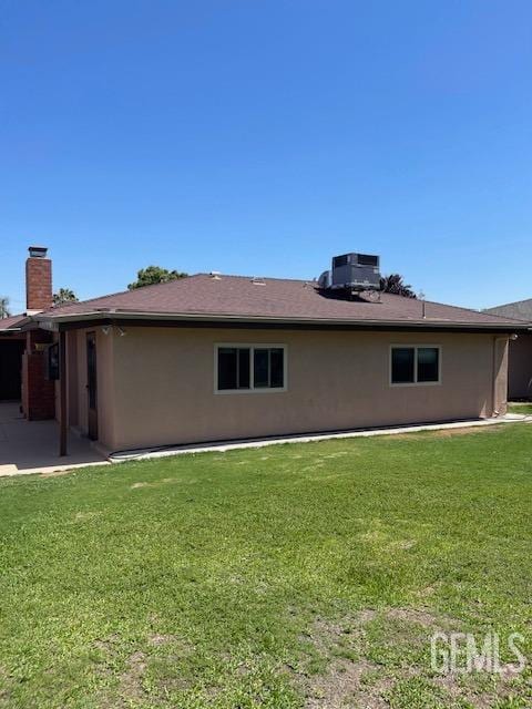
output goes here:
{"type": "Polygon", "coordinates": [[[69,434],[69,455],[60,458],[55,421],[27,421],[18,403],[0,403],[0,476],[51,473],[109,464],[88,439],[69,434]]]}

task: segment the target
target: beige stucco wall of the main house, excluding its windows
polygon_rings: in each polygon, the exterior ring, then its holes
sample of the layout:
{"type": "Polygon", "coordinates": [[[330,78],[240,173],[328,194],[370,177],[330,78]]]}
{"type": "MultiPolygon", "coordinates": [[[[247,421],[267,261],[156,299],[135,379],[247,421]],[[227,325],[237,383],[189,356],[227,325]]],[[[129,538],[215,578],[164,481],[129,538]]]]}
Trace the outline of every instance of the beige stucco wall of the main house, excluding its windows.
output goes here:
{"type": "MultiPolygon", "coordinates": [[[[125,331],[120,337],[96,329],[100,440],[113,450],[505,411],[507,342],[492,335],[134,327],[125,331]],[[215,394],[216,342],[286,345],[288,390],[215,394]],[[403,342],[442,347],[441,384],[390,387],[389,348],[403,342]]],[[[79,422],[86,430],[84,331],[78,337],[79,422]]]]}

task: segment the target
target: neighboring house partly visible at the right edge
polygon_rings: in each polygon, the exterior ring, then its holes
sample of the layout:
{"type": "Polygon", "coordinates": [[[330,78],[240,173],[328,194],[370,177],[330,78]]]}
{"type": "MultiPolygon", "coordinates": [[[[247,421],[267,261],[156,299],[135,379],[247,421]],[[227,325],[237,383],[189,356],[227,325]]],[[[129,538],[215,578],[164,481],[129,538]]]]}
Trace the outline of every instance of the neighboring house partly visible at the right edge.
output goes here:
{"type": "Polygon", "coordinates": [[[510,399],[532,399],[532,298],[488,308],[484,312],[529,322],[531,331],[510,342],[508,395],[510,399]]]}

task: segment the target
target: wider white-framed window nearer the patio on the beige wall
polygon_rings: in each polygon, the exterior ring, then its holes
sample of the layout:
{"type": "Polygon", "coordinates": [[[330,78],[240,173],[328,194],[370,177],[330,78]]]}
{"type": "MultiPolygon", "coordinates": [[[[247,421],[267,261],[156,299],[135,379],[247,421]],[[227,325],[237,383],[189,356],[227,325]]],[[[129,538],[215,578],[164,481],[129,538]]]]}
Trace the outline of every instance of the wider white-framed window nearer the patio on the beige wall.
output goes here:
{"type": "Polygon", "coordinates": [[[217,345],[215,391],[284,391],[286,347],[284,345],[217,345]]]}

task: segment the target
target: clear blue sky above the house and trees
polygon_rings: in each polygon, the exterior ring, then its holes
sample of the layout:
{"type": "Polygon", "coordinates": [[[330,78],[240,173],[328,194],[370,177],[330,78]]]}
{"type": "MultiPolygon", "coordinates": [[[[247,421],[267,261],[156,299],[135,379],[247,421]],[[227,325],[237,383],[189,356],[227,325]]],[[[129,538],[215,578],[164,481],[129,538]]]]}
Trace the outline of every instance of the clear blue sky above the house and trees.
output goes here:
{"type": "Polygon", "coordinates": [[[532,297],[530,0],[3,0],[0,295],[149,264],[532,297]]]}

